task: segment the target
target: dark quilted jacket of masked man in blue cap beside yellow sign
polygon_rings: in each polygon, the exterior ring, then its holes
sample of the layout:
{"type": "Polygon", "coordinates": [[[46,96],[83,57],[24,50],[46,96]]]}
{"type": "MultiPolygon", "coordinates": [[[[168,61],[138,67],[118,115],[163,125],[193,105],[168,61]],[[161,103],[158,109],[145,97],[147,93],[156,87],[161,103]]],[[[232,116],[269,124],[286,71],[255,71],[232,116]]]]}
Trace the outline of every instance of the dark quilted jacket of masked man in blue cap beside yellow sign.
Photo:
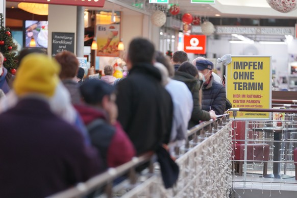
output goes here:
{"type": "Polygon", "coordinates": [[[216,115],[224,114],[226,107],[226,88],[210,78],[208,84],[202,87],[202,109],[215,111],[216,115]]]}

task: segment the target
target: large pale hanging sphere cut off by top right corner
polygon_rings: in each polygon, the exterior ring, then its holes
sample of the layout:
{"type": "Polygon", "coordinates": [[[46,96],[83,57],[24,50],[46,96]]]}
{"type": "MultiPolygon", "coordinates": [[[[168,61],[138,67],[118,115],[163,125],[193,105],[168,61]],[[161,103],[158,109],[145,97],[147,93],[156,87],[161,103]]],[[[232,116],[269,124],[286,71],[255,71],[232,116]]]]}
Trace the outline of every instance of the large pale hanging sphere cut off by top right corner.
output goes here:
{"type": "Polygon", "coordinates": [[[296,9],[297,0],[266,0],[269,6],[276,11],[287,13],[296,9]]]}

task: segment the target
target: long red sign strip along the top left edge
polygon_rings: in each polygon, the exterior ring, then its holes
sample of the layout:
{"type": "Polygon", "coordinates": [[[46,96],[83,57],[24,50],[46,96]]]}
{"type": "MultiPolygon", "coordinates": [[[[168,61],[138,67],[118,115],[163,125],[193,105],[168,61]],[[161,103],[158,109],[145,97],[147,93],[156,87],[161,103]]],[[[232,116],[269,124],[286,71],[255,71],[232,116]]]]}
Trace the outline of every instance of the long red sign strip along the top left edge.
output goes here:
{"type": "Polygon", "coordinates": [[[8,0],[7,2],[27,2],[37,4],[56,4],[67,6],[89,6],[89,7],[104,7],[105,0],[8,0]]]}

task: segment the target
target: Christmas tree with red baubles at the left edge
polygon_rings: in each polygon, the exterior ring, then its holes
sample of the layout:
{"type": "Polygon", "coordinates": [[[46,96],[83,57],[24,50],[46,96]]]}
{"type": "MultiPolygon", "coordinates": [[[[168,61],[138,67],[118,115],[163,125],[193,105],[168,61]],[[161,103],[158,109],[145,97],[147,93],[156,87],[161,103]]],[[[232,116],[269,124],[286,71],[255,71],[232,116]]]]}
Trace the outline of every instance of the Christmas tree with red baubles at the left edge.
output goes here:
{"type": "Polygon", "coordinates": [[[17,46],[12,41],[10,29],[4,27],[3,13],[0,13],[0,52],[4,56],[3,66],[13,74],[17,67],[16,48],[17,46]]]}

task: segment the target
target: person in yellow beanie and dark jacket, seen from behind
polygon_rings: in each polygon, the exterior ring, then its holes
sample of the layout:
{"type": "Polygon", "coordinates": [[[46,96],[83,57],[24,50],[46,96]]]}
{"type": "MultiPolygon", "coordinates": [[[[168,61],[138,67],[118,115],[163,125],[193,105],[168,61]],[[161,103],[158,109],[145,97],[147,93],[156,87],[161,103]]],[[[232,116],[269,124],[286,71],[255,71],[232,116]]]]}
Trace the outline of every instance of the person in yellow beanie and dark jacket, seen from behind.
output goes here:
{"type": "Polygon", "coordinates": [[[0,114],[0,197],[46,197],[101,171],[97,152],[50,109],[59,70],[42,54],[20,64],[13,83],[19,101],[0,114]]]}

